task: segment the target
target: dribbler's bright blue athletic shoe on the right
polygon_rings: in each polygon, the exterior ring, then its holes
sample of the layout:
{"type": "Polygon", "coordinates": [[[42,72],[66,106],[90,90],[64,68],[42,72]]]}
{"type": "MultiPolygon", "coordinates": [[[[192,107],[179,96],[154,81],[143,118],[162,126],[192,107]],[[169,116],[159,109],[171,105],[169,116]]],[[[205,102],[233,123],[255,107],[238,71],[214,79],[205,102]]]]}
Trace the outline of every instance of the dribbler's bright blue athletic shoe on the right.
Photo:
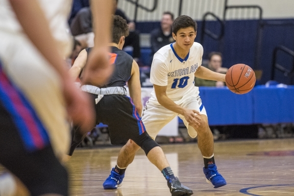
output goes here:
{"type": "Polygon", "coordinates": [[[216,164],[208,165],[208,168],[203,168],[203,172],[206,177],[206,182],[211,183],[213,188],[219,188],[226,185],[225,179],[218,172],[216,164]]]}

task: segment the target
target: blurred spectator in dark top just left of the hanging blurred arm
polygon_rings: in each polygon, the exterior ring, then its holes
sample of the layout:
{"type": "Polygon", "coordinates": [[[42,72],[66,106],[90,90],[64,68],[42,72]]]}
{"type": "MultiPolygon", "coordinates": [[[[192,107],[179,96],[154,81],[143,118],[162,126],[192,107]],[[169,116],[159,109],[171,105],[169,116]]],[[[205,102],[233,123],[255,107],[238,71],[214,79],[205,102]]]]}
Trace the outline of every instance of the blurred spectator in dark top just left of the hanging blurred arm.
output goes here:
{"type": "Polygon", "coordinates": [[[81,43],[82,48],[94,47],[92,13],[90,7],[80,9],[70,25],[74,39],[81,43]]]}

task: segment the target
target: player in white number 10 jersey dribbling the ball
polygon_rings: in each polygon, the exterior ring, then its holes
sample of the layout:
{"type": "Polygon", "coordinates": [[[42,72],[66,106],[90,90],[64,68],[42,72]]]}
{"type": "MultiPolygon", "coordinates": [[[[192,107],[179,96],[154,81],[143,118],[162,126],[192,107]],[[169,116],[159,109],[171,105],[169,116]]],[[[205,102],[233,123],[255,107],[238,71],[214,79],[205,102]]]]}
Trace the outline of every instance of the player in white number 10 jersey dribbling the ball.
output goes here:
{"type": "MultiPolygon", "coordinates": [[[[142,121],[147,133],[155,139],[167,123],[179,116],[184,121],[190,137],[195,138],[198,135],[206,181],[218,188],[226,185],[226,181],[215,165],[213,135],[208,126],[205,107],[199,97],[199,88],[194,86],[194,77],[225,81],[225,74],[201,67],[203,48],[194,42],[196,23],[192,18],[176,18],[172,24],[172,36],[175,42],[154,54],[150,73],[154,91],[142,113],[142,121]]],[[[134,142],[128,141],[119,153],[120,165],[117,166],[125,169],[138,149],[134,142]]]]}

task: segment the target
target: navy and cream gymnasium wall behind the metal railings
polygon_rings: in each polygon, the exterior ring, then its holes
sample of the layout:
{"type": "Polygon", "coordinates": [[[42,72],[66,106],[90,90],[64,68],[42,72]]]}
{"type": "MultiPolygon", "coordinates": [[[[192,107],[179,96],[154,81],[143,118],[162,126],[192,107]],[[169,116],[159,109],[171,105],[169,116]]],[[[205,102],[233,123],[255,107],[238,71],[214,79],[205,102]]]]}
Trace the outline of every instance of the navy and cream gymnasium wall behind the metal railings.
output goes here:
{"type": "MultiPolygon", "coordinates": [[[[147,12],[138,9],[137,29],[142,35],[159,27],[161,14],[164,11],[171,11],[175,17],[179,13],[180,0],[158,0],[157,9],[154,12],[147,12]]],[[[207,11],[213,12],[223,20],[224,0],[182,0],[181,14],[191,16],[198,25],[196,42],[200,42],[202,16],[207,11]]],[[[139,0],[139,3],[152,8],[154,0],[139,0]]],[[[288,23],[290,25],[265,25],[262,29],[261,58],[256,69],[262,70],[261,84],[270,80],[270,69],[272,64],[272,52],[276,46],[282,45],[294,50],[294,0],[228,0],[228,5],[259,5],[263,9],[265,22],[288,23]]],[[[126,0],[119,0],[118,7],[123,9],[126,15],[134,18],[134,5],[126,0]]],[[[223,66],[230,67],[236,63],[254,65],[254,56],[257,48],[257,25],[259,12],[257,9],[229,10],[225,16],[224,38],[222,41],[215,41],[207,36],[204,37],[203,48],[206,58],[211,51],[223,53],[223,66]]],[[[207,23],[207,28],[215,34],[220,33],[220,25],[213,18],[207,23]]],[[[292,69],[293,60],[282,52],[278,53],[277,62],[292,69]]],[[[289,78],[282,73],[276,74],[276,80],[282,83],[290,83],[289,78]]]]}

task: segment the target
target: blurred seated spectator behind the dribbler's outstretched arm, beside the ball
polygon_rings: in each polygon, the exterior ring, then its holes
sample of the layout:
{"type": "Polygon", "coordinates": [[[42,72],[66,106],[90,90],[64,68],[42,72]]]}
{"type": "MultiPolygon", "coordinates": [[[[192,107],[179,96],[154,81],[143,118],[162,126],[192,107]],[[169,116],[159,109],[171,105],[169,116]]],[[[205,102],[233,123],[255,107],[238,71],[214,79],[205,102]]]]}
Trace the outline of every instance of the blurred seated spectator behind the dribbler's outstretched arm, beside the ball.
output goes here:
{"type": "MultiPolygon", "coordinates": [[[[222,64],[221,52],[211,52],[208,55],[208,64],[205,64],[203,61],[201,66],[204,66],[210,69],[211,71],[214,71],[217,73],[226,73],[228,69],[221,67],[221,64],[222,64]]],[[[223,87],[225,86],[225,83],[221,81],[206,80],[206,79],[200,79],[195,77],[195,86],[223,87]]]]}

